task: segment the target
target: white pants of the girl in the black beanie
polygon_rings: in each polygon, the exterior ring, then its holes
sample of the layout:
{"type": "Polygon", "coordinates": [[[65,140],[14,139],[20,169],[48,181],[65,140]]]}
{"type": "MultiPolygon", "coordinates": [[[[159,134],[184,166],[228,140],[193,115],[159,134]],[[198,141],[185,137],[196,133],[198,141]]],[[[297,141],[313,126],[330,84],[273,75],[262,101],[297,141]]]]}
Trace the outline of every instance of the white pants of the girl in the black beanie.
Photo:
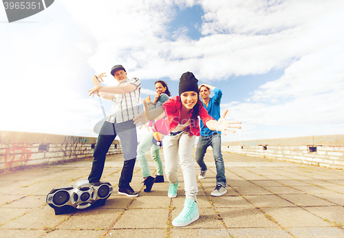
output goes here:
{"type": "Polygon", "coordinates": [[[191,158],[195,138],[195,136],[190,136],[189,132],[182,132],[177,136],[164,136],[162,139],[167,180],[173,184],[176,184],[178,181],[179,155],[180,166],[184,177],[185,195],[186,198],[194,201],[198,192],[195,162],[191,158]]]}

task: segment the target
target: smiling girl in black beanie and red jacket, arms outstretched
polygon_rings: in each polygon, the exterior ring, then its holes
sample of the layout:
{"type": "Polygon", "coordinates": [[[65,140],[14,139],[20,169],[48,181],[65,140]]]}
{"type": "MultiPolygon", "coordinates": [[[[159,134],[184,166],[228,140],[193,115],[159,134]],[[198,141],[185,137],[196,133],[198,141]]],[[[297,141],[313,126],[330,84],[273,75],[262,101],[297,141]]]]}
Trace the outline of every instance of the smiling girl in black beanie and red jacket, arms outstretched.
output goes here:
{"type": "Polygon", "coordinates": [[[147,120],[157,120],[154,125],[155,130],[165,135],[162,144],[164,146],[165,174],[170,182],[169,197],[177,197],[179,182],[177,155],[179,155],[186,199],[182,212],[172,221],[173,226],[187,226],[200,217],[196,199],[198,188],[195,162],[191,157],[195,136],[200,136],[198,116],[208,129],[222,131],[224,135],[226,135],[226,131],[235,133],[232,128],[241,128],[239,125],[233,125],[241,124],[241,122],[225,119],[228,110],[218,121],[208,115],[200,102],[197,82],[193,73],[182,74],[179,83],[180,96],[170,98],[161,107],[151,111],[148,109],[147,102],[143,100],[144,111],[133,118],[134,124],[141,122],[142,125],[147,120]]]}

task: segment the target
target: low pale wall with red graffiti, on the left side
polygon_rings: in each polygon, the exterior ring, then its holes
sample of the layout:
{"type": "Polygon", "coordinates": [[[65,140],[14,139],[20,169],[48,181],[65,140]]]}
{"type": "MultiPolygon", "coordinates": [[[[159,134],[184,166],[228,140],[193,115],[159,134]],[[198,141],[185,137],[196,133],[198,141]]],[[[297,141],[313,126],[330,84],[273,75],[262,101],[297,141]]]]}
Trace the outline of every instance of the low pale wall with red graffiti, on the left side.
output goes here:
{"type": "MultiPolygon", "coordinates": [[[[93,156],[97,138],[46,133],[0,131],[0,171],[35,164],[52,164],[93,156]]],[[[114,140],[108,155],[122,153],[114,140]]]]}

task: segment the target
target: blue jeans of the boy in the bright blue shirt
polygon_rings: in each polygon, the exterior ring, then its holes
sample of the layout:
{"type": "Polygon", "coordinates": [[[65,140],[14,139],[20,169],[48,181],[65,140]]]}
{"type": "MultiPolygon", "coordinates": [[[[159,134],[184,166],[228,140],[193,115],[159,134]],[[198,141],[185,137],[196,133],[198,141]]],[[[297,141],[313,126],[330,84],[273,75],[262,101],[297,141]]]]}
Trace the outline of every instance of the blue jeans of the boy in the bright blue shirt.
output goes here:
{"type": "Polygon", "coordinates": [[[200,136],[197,143],[196,149],[196,162],[200,166],[200,170],[206,171],[207,167],[204,163],[204,155],[206,154],[206,148],[209,146],[213,147],[213,154],[216,166],[216,184],[222,184],[227,186],[224,159],[221,153],[221,134],[213,133],[211,136],[200,136]]]}

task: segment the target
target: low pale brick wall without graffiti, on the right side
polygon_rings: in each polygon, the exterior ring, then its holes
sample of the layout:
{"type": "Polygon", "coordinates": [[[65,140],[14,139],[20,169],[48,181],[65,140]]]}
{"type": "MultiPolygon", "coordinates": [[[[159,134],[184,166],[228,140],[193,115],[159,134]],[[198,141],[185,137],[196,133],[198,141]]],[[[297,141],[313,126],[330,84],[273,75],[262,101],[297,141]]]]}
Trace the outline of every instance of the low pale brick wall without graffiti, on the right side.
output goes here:
{"type": "Polygon", "coordinates": [[[224,142],[222,151],[344,169],[344,135],[224,142]]]}

